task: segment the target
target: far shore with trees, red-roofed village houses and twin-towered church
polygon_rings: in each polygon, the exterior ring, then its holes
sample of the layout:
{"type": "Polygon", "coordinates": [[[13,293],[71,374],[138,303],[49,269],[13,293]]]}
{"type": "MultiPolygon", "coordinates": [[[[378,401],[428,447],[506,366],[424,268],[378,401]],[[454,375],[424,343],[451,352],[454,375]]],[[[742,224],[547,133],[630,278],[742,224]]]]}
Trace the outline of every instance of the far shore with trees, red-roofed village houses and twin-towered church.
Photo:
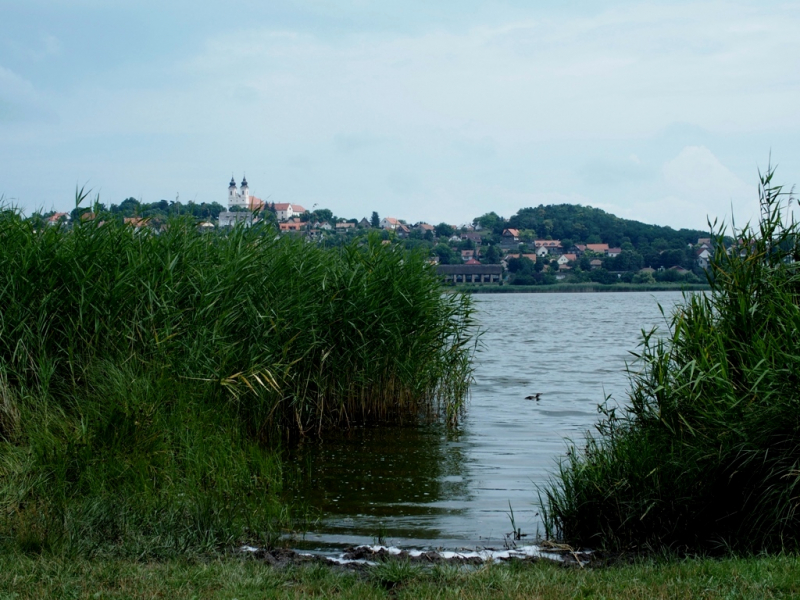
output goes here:
{"type": "MultiPolygon", "coordinates": [[[[231,185],[235,190],[235,182],[231,185]]],[[[160,231],[169,219],[182,216],[204,231],[213,231],[227,228],[233,219],[271,224],[282,236],[323,248],[343,247],[356,239],[379,235],[386,243],[426,255],[443,267],[440,271],[454,265],[500,266],[496,283],[521,288],[584,284],[624,289],[633,285],[631,290],[652,291],[656,289],[653,286],[668,289],[675,283],[703,285],[708,258],[714,251],[707,231],[649,225],[590,206],[540,205],[522,208],[508,218],[489,212],[469,223],[429,224],[381,218],[377,212],[369,218],[344,218],[328,208],[308,211],[299,205],[264,202],[253,196],[249,197],[248,210],[237,204],[241,198],[229,197],[233,202],[227,207],[229,212],[217,202],[141,202],[127,198],[109,206],[99,202],[91,207],[78,206],[69,213],[35,212],[27,221],[34,228],[68,228],[102,215],[106,222],[160,231]],[[296,212],[284,210],[287,207],[296,212]]],[[[730,238],[717,241],[726,246],[732,243],[730,238]]],[[[462,276],[455,283],[469,285],[472,281],[462,276]]]]}

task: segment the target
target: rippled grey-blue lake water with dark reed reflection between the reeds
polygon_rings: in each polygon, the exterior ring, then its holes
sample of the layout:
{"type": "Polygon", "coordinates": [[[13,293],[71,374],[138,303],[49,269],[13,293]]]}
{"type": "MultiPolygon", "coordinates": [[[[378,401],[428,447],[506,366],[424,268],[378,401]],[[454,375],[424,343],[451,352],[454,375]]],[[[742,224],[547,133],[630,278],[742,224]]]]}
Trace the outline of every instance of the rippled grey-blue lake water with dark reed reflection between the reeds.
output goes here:
{"type": "Polygon", "coordinates": [[[542,532],[535,502],[581,443],[610,394],[627,401],[626,362],[641,331],[666,331],[679,292],[489,294],[475,297],[485,333],[456,431],[439,425],[359,428],[295,451],[290,493],[322,519],[295,540],[308,549],[373,543],[502,545],[542,532]],[[525,396],[541,393],[537,401],[525,396]]]}

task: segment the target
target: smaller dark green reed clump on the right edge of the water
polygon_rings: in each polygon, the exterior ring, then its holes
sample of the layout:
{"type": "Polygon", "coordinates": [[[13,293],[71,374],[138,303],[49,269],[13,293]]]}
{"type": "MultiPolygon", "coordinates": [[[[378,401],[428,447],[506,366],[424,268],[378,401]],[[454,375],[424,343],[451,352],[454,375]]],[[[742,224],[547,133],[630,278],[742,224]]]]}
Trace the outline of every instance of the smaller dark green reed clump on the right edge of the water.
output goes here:
{"type": "Polygon", "coordinates": [[[772,179],[729,252],[717,229],[711,292],[686,298],[666,339],[644,336],[626,409],[606,407],[543,490],[549,535],[615,550],[800,545],[800,238],[772,179]]]}

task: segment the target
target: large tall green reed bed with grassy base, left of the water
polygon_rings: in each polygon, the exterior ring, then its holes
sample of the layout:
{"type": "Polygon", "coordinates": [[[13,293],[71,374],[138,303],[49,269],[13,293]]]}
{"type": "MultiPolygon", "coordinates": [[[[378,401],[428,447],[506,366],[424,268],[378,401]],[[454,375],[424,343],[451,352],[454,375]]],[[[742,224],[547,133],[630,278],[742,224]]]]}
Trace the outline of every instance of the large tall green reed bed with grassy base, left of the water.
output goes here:
{"type": "Polygon", "coordinates": [[[5,542],[169,554],[257,537],[288,523],[281,440],[457,420],[472,307],[424,257],[102,221],[0,216],[5,542]]]}

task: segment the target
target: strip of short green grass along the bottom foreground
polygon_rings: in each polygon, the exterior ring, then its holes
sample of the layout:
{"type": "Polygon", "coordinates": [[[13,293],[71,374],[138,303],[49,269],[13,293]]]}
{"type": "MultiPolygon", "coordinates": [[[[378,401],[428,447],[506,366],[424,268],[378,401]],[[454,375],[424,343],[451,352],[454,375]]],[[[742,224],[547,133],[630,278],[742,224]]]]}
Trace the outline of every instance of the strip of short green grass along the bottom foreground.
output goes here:
{"type": "Polygon", "coordinates": [[[548,563],[467,571],[387,563],[360,572],[256,560],[137,562],[0,555],[0,597],[25,598],[796,598],[796,556],[643,561],[600,569],[548,563]]]}

